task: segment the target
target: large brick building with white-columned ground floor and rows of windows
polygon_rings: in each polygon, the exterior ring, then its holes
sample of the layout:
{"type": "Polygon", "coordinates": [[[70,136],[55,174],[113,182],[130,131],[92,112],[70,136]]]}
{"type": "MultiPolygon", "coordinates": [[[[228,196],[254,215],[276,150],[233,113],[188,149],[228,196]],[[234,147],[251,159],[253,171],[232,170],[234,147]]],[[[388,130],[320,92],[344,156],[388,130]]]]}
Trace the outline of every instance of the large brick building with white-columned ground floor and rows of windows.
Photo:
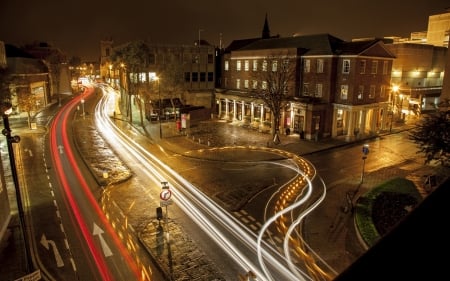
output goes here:
{"type": "Polygon", "coordinates": [[[345,42],[329,34],[250,41],[223,55],[223,84],[215,94],[219,118],[269,130],[273,116],[252,94],[263,81],[254,81],[252,73],[262,70],[268,58],[272,66],[281,64],[273,59],[279,56],[295,64],[279,129],[312,139],[372,134],[389,125],[395,57],[383,41],[345,42]]]}

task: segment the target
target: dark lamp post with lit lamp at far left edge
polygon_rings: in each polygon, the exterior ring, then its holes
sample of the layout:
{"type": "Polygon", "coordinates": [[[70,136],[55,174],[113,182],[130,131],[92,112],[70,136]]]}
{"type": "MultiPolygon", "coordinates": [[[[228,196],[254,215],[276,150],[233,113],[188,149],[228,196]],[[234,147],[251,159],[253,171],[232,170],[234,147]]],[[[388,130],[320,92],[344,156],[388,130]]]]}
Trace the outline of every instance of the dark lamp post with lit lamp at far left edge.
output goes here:
{"type": "Polygon", "coordinates": [[[11,114],[12,111],[12,105],[10,103],[5,103],[1,107],[3,112],[3,125],[4,129],[2,130],[3,135],[6,137],[6,143],[8,146],[8,155],[9,155],[9,162],[11,165],[11,175],[14,182],[14,188],[16,191],[16,201],[17,201],[17,210],[19,212],[19,219],[20,219],[20,227],[22,229],[22,238],[23,242],[25,244],[25,258],[26,258],[26,271],[27,273],[31,272],[31,269],[33,267],[31,263],[31,254],[30,254],[30,245],[28,243],[28,239],[25,235],[25,215],[23,211],[23,205],[22,205],[22,195],[20,194],[20,187],[19,187],[19,179],[17,177],[17,169],[16,169],[16,160],[14,158],[14,150],[13,150],[13,143],[20,142],[19,136],[11,136],[11,128],[9,126],[9,114],[11,114]]]}

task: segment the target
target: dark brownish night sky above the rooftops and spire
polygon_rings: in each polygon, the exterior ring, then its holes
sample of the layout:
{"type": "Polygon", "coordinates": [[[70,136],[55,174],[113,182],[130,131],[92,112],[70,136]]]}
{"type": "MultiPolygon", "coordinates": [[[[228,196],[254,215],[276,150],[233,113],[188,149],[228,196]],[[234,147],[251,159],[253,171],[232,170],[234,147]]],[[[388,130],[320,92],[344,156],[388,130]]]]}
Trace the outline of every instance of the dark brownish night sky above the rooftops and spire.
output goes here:
{"type": "Polygon", "coordinates": [[[267,13],[272,35],[329,33],[344,40],[425,31],[448,0],[0,0],[0,40],[48,42],[69,56],[99,57],[101,39],[227,46],[261,36],[267,13]],[[222,37],[220,36],[222,34],[222,37]]]}

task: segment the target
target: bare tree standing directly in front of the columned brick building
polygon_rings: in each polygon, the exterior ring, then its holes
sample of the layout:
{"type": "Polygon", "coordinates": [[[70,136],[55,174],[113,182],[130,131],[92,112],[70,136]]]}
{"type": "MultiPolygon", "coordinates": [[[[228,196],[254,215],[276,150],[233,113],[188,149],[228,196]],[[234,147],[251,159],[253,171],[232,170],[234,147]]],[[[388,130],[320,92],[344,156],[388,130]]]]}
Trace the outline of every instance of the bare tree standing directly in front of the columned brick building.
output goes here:
{"type": "Polygon", "coordinates": [[[270,56],[263,60],[263,65],[255,72],[259,87],[253,89],[256,97],[270,109],[273,117],[271,132],[273,142],[280,143],[280,120],[283,108],[289,101],[290,85],[294,85],[295,63],[285,55],[270,56]]]}

